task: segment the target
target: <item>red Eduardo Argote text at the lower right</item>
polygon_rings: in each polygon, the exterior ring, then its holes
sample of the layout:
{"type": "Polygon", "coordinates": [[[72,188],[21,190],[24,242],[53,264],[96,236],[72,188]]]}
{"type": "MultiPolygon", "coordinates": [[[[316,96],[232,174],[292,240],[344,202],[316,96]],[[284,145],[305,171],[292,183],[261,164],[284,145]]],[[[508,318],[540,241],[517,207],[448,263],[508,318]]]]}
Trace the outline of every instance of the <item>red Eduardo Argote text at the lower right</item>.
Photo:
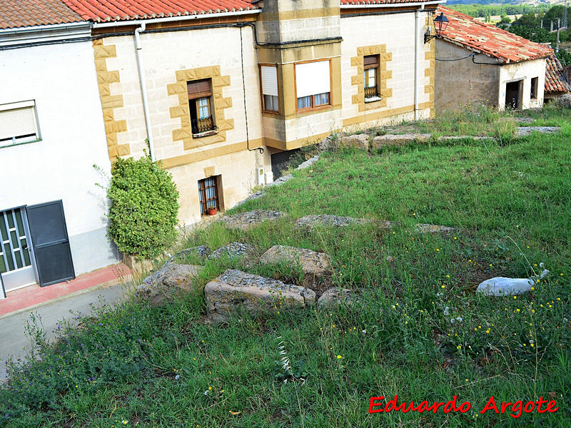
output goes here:
{"type": "MultiPolygon", "coordinates": [[[[448,402],[428,402],[422,401],[417,405],[414,402],[404,402],[401,401],[399,404],[398,395],[394,398],[384,401],[385,397],[381,395],[380,397],[370,397],[369,400],[369,413],[388,413],[388,412],[468,412],[472,408],[470,402],[457,403],[458,396],[454,396],[448,402]]],[[[518,418],[523,413],[554,413],[557,412],[559,407],[556,407],[557,403],[555,400],[547,400],[540,397],[537,401],[523,402],[522,400],[517,400],[515,402],[497,402],[492,395],[490,399],[487,400],[482,409],[479,409],[480,414],[485,414],[486,412],[495,412],[497,414],[508,413],[511,417],[518,418]]]]}

